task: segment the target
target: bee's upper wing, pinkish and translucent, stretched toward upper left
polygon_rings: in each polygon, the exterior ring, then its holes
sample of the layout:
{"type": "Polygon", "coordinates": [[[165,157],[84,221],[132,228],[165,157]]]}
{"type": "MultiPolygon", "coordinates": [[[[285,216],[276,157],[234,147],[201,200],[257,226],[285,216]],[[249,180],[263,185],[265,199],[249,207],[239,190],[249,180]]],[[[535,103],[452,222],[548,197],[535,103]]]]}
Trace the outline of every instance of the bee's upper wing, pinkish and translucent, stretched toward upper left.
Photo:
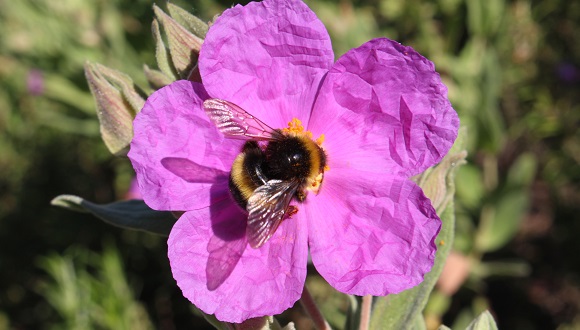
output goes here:
{"type": "Polygon", "coordinates": [[[205,113],[226,137],[241,140],[271,141],[282,134],[250,115],[238,105],[220,99],[203,102],[205,113]]]}

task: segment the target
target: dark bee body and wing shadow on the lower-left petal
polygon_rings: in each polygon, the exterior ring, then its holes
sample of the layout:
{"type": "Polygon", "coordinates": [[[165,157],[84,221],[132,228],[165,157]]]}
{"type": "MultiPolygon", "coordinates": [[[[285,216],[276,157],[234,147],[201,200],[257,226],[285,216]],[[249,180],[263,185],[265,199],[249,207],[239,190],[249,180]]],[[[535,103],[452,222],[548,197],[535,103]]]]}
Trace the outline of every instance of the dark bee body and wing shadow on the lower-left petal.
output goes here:
{"type": "MultiPolygon", "coordinates": [[[[213,188],[213,187],[212,187],[213,188]]],[[[207,288],[217,289],[230,276],[240,261],[247,245],[247,214],[231,198],[223,198],[221,191],[214,192],[210,206],[212,233],[207,252],[207,288]]]]}

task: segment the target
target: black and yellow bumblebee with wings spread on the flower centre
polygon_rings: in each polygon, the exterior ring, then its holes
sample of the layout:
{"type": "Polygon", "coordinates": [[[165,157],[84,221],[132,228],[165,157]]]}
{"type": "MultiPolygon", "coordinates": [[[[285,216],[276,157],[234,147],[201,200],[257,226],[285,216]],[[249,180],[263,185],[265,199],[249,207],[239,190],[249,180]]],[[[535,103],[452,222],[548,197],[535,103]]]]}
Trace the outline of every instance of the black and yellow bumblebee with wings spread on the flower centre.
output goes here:
{"type": "Polygon", "coordinates": [[[284,219],[298,212],[290,205],[293,199],[303,202],[308,191],[318,192],[326,154],[321,142],[305,132],[273,129],[231,102],[208,99],[203,107],[226,137],[247,141],[232,165],[229,189],[248,212],[250,246],[259,248],[284,219]]]}

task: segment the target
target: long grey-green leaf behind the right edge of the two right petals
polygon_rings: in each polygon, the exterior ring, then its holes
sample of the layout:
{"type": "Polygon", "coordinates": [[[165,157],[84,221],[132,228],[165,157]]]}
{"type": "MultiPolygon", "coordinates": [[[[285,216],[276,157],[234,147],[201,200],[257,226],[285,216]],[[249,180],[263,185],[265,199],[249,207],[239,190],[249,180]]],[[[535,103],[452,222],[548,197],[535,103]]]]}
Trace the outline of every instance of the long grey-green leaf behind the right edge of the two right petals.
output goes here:
{"type": "MultiPolygon", "coordinates": [[[[431,198],[436,205],[442,221],[441,231],[435,239],[438,245],[435,256],[435,264],[431,271],[425,275],[424,281],[418,286],[376,299],[370,329],[421,329],[417,323],[421,312],[427,304],[429,294],[433,290],[447,255],[453,245],[455,228],[455,208],[453,196],[455,194],[455,171],[463,164],[467,153],[463,150],[465,131],[460,131],[460,136],[455,142],[449,154],[437,167],[429,169],[424,175],[419,176],[418,181],[425,190],[427,197],[431,198]]],[[[422,319],[422,317],[421,317],[422,319]]],[[[424,322],[423,322],[424,323],[424,322]]]]}

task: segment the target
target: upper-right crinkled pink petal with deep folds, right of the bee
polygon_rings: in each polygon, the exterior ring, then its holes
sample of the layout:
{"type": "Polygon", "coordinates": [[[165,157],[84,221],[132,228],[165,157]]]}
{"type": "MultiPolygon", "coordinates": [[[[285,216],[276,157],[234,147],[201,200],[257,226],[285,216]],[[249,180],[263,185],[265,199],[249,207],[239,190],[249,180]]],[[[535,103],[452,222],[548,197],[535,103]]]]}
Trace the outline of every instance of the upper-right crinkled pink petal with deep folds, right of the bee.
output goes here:
{"type": "Polygon", "coordinates": [[[459,119],[432,62],[373,39],[343,55],[323,82],[308,129],[337,166],[409,177],[439,162],[459,119]]]}

